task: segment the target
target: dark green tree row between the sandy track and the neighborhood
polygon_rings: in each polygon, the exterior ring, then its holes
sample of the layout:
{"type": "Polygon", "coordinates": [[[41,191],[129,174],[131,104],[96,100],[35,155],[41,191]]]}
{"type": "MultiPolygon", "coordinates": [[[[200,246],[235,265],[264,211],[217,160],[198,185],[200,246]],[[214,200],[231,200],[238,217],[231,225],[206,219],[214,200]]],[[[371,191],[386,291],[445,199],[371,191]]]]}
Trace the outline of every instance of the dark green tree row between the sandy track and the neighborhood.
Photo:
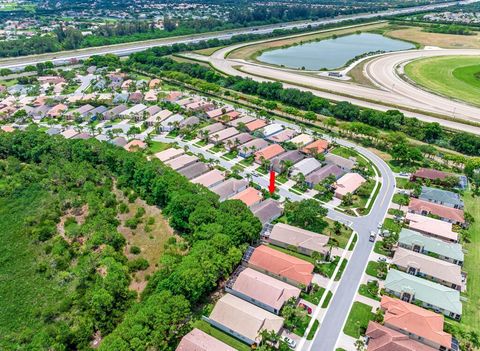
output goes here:
{"type": "Polygon", "coordinates": [[[300,110],[312,111],[325,116],[366,125],[387,131],[401,131],[406,135],[428,143],[436,143],[471,156],[480,155],[480,138],[476,135],[459,132],[446,132],[437,122],[423,122],[408,118],[398,110],[386,112],[362,109],[349,102],[331,103],[311,92],[284,88],[279,82],[257,82],[242,77],[225,77],[214,70],[198,64],[176,62],[165,55],[181,51],[180,46],[158,47],[130,56],[126,67],[133,67],[155,75],[164,75],[176,80],[191,83],[200,79],[210,85],[203,85],[214,91],[215,86],[232,89],[245,94],[256,95],[265,100],[279,101],[300,110]]]}

